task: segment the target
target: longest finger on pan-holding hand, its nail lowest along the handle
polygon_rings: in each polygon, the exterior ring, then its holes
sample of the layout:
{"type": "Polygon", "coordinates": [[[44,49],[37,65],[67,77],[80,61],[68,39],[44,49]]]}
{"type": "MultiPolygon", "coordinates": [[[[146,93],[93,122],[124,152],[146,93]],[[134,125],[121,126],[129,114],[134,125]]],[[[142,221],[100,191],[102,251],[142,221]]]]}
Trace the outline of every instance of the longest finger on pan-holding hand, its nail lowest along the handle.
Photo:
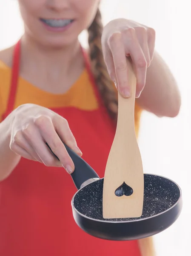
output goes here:
{"type": "Polygon", "coordinates": [[[37,125],[39,128],[40,134],[45,142],[48,143],[52,152],[59,158],[62,166],[69,174],[71,174],[74,171],[74,163],[71,160],[71,157],[68,155],[68,152],[66,151],[63,142],[60,140],[60,137],[56,133],[51,119],[47,116],[39,116],[35,119],[35,125],[37,125]]]}

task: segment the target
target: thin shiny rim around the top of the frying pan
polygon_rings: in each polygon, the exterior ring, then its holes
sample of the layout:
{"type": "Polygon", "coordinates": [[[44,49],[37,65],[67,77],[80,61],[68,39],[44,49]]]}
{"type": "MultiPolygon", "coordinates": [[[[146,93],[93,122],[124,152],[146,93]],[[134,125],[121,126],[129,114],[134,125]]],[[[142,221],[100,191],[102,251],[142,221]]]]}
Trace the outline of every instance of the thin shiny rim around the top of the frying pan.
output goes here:
{"type": "MultiPolygon", "coordinates": [[[[88,217],[88,216],[82,214],[81,212],[79,212],[79,211],[74,207],[74,198],[75,198],[75,196],[77,195],[78,192],[80,192],[81,189],[83,189],[84,187],[88,186],[88,185],[90,184],[90,183],[89,183],[89,184],[87,184],[86,186],[84,186],[83,188],[78,189],[77,192],[76,192],[76,193],[74,194],[74,196],[72,197],[72,199],[71,199],[72,209],[75,210],[75,212],[77,212],[77,214],[81,215],[83,218],[87,218],[87,219],[89,219],[89,220],[91,220],[91,221],[98,221],[98,222],[104,222],[104,223],[120,224],[120,223],[131,223],[131,222],[137,222],[137,221],[145,221],[145,220],[148,220],[148,219],[151,219],[151,218],[155,218],[155,217],[157,217],[157,216],[160,216],[160,215],[164,214],[165,212],[168,212],[169,210],[171,210],[172,208],[174,208],[177,204],[179,204],[180,201],[182,201],[182,190],[181,190],[180,186],[179,186],[176,182],[174,182],[174,180],[171,180],[171,179],[169,179],[169,178],[167,178],[167,177],[165,177],[165,176],[162,176],[162,175],[155,175],[155,174],[152,174],[152,173],[144,173],[144,175],[153,175],[153,176],[165,178],[166,180],[170,180],[172,183],[174,183],[174,184],[178,187],[178,189],[179,189],[179,191],[180,191],[180,196],[179,196],[177,202],[176,202],[173,206],[171,206],[170,208],[166,209],[165,211],[160,212],[160,213],[157,213],[156,215],[153,215],[153,216],[150,216],[150,217],[147,217],[147,218],[137,218],[137,219],[130,220],[130,221],[107,221],[107,220],[94,219],[94,218],[90,218],[90,217],[88,217]]],[[[104,179],[104,178],[100,178],[100,180],[102,180],[102,179],[104,179]]],[[[95,180],[95,181],[93,181],[93,182],[91,182],[91,183],[94,183],[94,182],[96,182],[96,181],[98,181],[98,180],[95,180]]]]}

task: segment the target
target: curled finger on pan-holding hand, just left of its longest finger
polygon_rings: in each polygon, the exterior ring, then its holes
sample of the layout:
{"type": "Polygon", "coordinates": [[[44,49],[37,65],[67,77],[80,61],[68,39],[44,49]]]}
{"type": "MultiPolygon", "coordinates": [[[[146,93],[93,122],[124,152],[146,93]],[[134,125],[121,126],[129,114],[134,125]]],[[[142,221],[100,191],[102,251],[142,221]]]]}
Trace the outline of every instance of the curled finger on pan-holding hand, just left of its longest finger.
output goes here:
{"type": "Polygon", "coordinates": [[[40,161],[46,166],[61,166],[56,157],[51,154],[43,140],[42,135],[40,134],[40,131],[34,124],[28,125],[25,129],[23,129],[23,135],[31,145],[31,155],[34,156],[35,152],[35,154],[37,154],[37,156],[40,158],[40,161]]]}

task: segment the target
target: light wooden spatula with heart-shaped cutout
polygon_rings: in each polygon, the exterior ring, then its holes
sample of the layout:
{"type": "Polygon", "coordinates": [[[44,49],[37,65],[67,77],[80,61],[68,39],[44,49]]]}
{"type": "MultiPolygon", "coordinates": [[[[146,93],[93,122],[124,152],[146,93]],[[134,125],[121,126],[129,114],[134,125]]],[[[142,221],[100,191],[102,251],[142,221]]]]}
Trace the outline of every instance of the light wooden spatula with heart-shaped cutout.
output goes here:
{"type": "Polygon", "coordinates": [[[134,128],[137,79],[129,58],[131,97],[118,93],[117,129],[105,169],[103,218],[138,218],[143,211],[144,176],[134,128]]]}

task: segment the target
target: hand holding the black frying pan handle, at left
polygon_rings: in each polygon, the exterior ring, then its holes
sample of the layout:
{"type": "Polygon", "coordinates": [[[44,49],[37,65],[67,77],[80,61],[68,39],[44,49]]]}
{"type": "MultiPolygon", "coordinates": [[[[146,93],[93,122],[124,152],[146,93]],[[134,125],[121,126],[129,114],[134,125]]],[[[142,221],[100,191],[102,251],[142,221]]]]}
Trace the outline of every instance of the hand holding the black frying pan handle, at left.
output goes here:
{"type": "Polygon", "coordinates": [[[74,171],[74,163],[63,142],[78,155],[81,156],[82,152],[77,147],[66,119],[48,108],[34,104],[21,105],[10,115],[11,151],[46,166],[63,166],[69,174],[74,171]],[[54,157],[46,143],[60,161],[54,157]]]}

